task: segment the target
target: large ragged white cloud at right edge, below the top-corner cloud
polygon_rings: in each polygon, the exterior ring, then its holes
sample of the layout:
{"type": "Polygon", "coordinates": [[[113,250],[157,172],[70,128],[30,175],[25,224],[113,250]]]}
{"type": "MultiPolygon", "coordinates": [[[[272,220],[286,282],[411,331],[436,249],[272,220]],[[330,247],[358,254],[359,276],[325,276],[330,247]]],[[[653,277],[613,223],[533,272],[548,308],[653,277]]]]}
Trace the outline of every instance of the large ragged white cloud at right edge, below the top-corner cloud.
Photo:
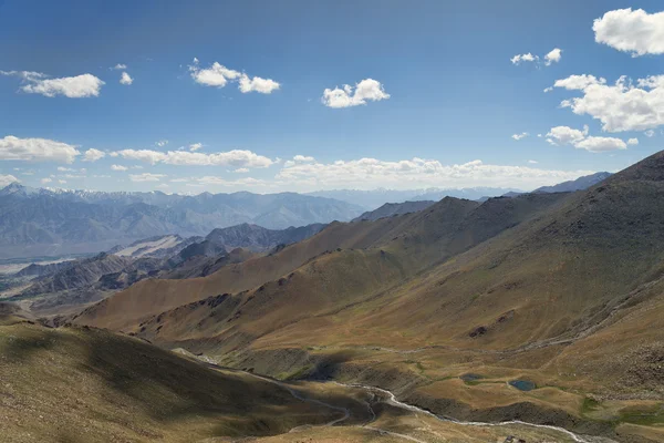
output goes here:
{"type": "Polygon", "coordinates": [[[608,132],[645,131],[664,124],[664,75],[637,79],[636,86],[626,76],[621,76],[613,85],[604,82],[592,75],[572,75],[557,81],[557,86],[577,89],[583,94],[563,100],[561,107],[599,120],[602,130],[608,132]]]}

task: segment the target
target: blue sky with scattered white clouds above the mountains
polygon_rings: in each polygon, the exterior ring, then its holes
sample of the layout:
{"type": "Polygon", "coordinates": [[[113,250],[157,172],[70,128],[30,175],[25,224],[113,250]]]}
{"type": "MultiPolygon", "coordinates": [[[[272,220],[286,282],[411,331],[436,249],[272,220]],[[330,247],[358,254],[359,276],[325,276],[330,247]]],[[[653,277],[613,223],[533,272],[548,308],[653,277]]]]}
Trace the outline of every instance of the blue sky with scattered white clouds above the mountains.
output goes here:
{"type": "Polygon", "coordinates": [[[532,189],[660,151],[661,1],[0,0],[0,186],[532,189]]]}

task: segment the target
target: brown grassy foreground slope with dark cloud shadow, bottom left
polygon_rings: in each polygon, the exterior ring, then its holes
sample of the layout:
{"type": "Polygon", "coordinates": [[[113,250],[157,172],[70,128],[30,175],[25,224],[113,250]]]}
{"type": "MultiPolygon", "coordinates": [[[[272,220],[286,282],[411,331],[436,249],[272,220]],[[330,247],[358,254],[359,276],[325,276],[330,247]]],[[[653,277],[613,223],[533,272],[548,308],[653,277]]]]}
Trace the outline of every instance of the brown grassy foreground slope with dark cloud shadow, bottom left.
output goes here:
{"type": "Polygon", "coordinates": [[[3,442],[191,442],[339,415],[259,379],[86,328],[0,326],[3,442]]]}

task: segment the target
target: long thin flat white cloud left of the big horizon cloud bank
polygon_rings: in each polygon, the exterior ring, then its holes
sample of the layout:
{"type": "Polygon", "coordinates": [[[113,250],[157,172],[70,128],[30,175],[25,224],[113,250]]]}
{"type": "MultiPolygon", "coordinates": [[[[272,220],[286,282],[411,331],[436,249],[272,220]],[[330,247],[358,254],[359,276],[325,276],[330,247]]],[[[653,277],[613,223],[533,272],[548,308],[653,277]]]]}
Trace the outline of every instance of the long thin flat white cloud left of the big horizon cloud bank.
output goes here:
{"type": "Polygon", "coordinates": [[[168,151],[167,153],[151,150],[123,150],[115,152],[115,156],[127,159],[169,165],[197,165],[197,166],[232,166],[232,167],[268,167],[272,161],[251,151],[234,150],[222,153],[204,154],[186,151],[168,151]]]}

